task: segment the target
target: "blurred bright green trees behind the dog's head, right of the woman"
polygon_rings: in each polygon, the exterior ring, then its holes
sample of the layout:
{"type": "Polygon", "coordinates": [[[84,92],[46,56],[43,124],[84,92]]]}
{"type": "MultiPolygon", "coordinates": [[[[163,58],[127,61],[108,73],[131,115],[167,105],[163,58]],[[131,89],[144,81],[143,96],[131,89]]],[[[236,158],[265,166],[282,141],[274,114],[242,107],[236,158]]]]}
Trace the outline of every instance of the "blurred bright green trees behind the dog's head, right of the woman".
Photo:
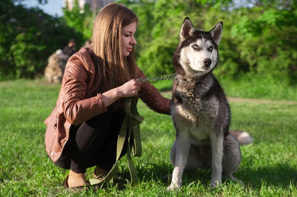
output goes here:
{"type": "Polygon", "coordinates": [[[297,6],[293,0],[121,0],[139,17],[137,63],[147,76],[174,72],[172,57],[186,16],[195,28],[224,22],[215,74],[297,82],[297,6]]]}

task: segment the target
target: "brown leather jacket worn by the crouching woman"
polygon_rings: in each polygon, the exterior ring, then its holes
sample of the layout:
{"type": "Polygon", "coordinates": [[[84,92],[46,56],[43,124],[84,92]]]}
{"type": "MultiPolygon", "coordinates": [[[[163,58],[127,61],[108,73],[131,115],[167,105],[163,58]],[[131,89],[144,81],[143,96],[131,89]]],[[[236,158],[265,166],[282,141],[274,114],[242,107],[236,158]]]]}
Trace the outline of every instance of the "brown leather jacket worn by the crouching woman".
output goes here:
{"type": "MultiPolygon", "coordinates": [[[[70,57],[56,106],[45,120],[46,151],[53,162],[57,161],[62,153],[71,124],[78,125],[107,111],[100,93],[95,97],[86,98],[94,84],[93,54],[91,49],[83,48],[70,57]]],[[[137,78],[145,79],[144,73],[138,67],[136,74],[137,78]]],[[[170,99],[164,98],[148,82],[142,84],[139,97],[150,109],[170,114],[170,99]]]]}

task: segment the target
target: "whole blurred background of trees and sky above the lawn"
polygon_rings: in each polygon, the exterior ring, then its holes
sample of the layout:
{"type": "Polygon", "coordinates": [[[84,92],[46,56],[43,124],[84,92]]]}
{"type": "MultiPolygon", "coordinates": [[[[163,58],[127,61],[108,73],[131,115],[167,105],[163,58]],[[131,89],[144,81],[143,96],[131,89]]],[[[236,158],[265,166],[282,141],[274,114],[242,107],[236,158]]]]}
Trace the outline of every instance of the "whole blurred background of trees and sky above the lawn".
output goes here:
{"type": "Polygon", "coordinates": [[[174,73],[186,16],[205,31],[223,21],[214,73],[227,95],[297,100],[296,0],[1,0],[0,81],[44,77],[49,56],[70,39],[76,51],[86,45],[94,17],[110,2],[139,17],[136,58],[147,77],[174,73]]]}

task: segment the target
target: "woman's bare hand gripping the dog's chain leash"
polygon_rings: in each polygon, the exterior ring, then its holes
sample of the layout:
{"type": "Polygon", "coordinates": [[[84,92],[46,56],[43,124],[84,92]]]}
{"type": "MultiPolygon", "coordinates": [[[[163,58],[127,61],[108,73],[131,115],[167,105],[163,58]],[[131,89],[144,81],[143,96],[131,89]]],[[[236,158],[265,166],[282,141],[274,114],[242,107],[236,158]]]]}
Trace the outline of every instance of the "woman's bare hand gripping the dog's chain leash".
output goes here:
{"type": "Polygon", "coordinates": [[[119,96],[121,98],[137,97],[142,82],[139,80],[132,79],[126,82],[124,85],[118,87],[119,96]]]}

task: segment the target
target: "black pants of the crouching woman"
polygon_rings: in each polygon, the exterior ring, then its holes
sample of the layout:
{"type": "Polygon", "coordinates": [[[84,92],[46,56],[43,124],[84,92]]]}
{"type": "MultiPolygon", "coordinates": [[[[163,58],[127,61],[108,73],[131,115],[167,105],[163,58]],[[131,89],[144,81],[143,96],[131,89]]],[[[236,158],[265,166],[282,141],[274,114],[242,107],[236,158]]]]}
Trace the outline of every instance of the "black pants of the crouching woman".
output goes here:
{"type": "MultiPolygon", "coordinates": [[[[125,116],[124,108],[107,110],[79,126],[71,125],[69,139],[55,164],[76,173],[85,173],[95,165],[110,170],[116,161],[117,138],[125,116]]],[[[121,157],[127,153],[127,143],[128,138],[121,157]]]]}

